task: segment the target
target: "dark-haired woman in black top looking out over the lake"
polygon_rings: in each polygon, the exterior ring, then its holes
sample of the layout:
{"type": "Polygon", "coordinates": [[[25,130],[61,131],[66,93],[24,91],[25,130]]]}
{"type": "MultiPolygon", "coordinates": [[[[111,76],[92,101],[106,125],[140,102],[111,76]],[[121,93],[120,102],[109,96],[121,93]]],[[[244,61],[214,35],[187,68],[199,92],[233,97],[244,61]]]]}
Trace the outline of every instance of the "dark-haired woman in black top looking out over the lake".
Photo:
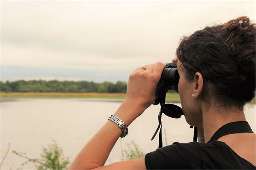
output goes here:
{"type": "Polygon", "coordinates": [[[114,113],[119,126],[110,117],[70,169],[255,169],[256,134],[243,111],[255,96],[255,24],[244,16],[206,27],[181,39],[176,53],[183,113],[198,127],[200,143],[175,142],[143,158],[104,166],[126,127],[155,100],[165,67],[158,62],[129,76],[127,96],[114,113]]]}

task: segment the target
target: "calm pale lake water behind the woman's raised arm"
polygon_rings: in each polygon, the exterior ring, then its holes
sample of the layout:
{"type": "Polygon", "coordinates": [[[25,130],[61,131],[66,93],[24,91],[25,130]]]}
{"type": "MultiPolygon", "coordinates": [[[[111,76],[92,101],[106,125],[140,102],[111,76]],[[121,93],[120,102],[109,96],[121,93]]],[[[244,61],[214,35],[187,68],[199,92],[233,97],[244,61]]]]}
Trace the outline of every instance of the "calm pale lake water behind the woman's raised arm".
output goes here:
{"type": "MultiPolygon", "coordinates": [[[[25,152],[29,158],[40,158],[42,147],[47,147],[54,139],[63,154],[72,161],[121,102],[19,98],[0,104],[1,157],[10,143],[10,151],[25,152]]],[[[158,125],[159,109],[160,105],[152,105],[129,126],[129,134],[117,141],[106,164],[120,161],[121,148],[127,149],[127,143],[131,141],[137,143],[144,153],[156,150],[158,134],[153,141],[150,139],[158,125]]],[[[255,108],[246,106],[245,114],[255,132],[255,108]]],[[[163,145],[174,141],[190,142],[193,131],[183,116],[181,119],[172,119],[162,115],[163,145]]],[[[17,169],[23,162],[25,159],[10,152],[2,168],[17,169]]],[[[23,168],[35,169],[35,166],[27,164],[23,168]]]]}

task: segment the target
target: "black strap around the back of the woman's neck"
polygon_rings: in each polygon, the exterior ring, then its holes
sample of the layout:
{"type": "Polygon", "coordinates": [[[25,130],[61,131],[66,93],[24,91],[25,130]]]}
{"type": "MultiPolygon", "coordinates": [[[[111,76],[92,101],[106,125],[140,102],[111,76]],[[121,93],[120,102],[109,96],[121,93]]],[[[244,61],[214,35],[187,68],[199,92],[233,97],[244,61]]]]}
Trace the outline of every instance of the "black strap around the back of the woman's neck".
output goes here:
{"type": "Polygon", "coordinates": [[[217,130],[207,143],[216,141],[220,137],[233,134],[233,133],[254,133],[254,132],[252,131],[249,123],[246,121],[231,122],[231,123],[227,123],[226,125],[222,126],[219,130],[217,130]]]}

